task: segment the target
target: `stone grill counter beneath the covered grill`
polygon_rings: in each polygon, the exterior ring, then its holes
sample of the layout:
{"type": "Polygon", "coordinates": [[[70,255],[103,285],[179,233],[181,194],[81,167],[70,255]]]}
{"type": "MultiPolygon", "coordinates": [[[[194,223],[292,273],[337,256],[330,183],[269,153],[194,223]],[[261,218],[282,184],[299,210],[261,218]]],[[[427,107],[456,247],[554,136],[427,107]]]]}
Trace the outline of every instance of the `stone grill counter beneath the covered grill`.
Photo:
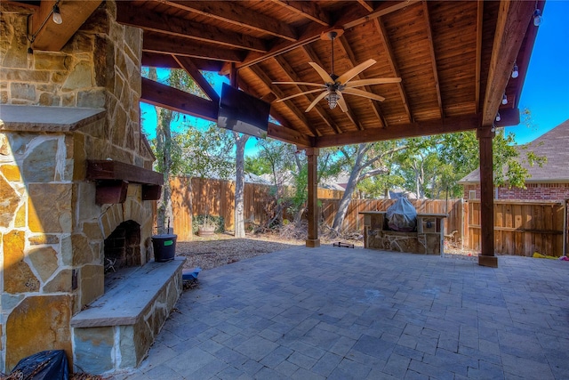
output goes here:
{"type": "Polygon", "coordinates": [[[443,255],[446,214],[417,214],[417,228],[412,232],[389,230],[385,211],[365,211],[364,243],[366,248],[443,255]]]}

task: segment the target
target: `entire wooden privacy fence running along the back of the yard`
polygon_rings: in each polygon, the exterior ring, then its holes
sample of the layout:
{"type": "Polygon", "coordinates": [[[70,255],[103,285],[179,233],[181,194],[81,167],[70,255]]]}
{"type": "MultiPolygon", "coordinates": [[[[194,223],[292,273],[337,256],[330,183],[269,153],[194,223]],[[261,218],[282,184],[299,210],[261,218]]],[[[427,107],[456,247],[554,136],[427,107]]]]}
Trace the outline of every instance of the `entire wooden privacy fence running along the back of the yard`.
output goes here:
{"type": "MultiPolygon", "coordinates": [[[[222,216],[226,230],[234,229],[235,182],[201,178],[172,179],[172,209],[175,233],[180,241],[192,239],[192,214],[222,216]]],[[[268,206],[273,201],[271,186],[245,183],[245,222],[261,224],[268,218],[268,206]]],[[[340,205],[342,191],[318,190],[321,221],[333,225],[340,205]]],[[[411,199],[418,213],[447,214],[445,234],[461,247],[480,250],[480,201],[463,199],[411,199]]],[[[362,231],[363,211],[385,211],[394,199],[352,199],[342,230],[362,231]]],[[[531,202],[494,200],[495,252],[503,255],[560,256],[566,251],[567,207],[561,202],[531,202]],[[565,216],[564,216],[565,215],[565,216]],[[565,218],[565,219],[564,219],[565,218]],[[565,230],[565,232],[564,232],[565,230]]]]}

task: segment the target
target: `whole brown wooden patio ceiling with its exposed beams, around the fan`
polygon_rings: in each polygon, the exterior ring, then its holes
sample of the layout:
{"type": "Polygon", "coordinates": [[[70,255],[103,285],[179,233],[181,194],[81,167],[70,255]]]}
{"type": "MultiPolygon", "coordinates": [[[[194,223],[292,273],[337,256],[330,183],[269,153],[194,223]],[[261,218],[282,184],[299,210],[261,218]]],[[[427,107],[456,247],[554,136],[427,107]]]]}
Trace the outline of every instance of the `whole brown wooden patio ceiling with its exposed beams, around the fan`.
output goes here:
{"type": "MultiPolygon", "coordinates": [[[[64,2],[62,6],[65,6],[64,2]]],[[[119,1],[119,23],[144,31],[144,65],[186,69],[211,100],[195,99],[145,80],[142,101],[215,119],[217,95],[200,70],[232,75],[247,93],[271,103],[280,125],[268,135],[305,147],[389,140],[422,134],[517,125],[518,101],[537,28],[526,1],[119,1]],[[370,58],[355,79],[401,77],[369,85],[385,101],[345,95],[349,111],[314,94],[279,101],[321,82],[309,61],[331,71],[330,41],[340,75],[370,58]],[[520,70],[510,77],[514,62],[520,70]],[[509,99],[501,104],[502,94],[509,99]],[[183,99],[180,99],[180,96],[183,99]]],[[[543,9],[544,2],[538,7],[543,9]]]]}

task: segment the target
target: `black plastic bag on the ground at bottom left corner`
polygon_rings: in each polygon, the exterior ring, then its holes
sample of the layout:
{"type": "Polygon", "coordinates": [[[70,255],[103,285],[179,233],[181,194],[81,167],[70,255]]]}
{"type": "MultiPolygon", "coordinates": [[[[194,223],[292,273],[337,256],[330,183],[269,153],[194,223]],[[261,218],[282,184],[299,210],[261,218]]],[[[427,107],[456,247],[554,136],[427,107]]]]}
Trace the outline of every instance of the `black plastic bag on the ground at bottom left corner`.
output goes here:
{"type": "Polygon", "coordinates": [[[16,372],[23,380],[68,380],[68,357],[63,350],[37,352],[20,360],[12,369],[16,372]]]}

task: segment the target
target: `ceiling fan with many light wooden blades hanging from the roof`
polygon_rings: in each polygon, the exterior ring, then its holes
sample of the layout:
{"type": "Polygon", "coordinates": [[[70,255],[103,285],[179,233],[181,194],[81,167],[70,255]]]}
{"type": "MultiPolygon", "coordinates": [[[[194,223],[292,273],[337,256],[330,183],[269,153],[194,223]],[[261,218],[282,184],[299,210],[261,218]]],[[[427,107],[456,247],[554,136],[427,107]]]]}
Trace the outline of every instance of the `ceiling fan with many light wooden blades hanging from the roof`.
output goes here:
{"type": "Polygon", "coordinates": [[[401,82],[400,77],[377,77],[371,79],[361,79],[349,82],[349,80],[353,77],[356,77],[359,73],[364,71],[365,69],[372,66],[376,61],[375,60],[367,60],[363,63],[360,63],[356,67],[349,69],[340,77],[334,74],[334,39],[336,37],[341,36],[343,34],[343,30],[336,29],[332,30],[326,34],[322,35],[322,39],[330,39],[332,41],[332,74],[328,74],[325,69],[322,69],[316,62],[309,62],[309,65],[312,66],[315,70],[317,70],[318,75],[322,77],[324,80],[324,84],[321,83],[312,83],[312,82],[273,82],[273,85],[309,85],[309,86],[316,86],[318,87],[316,90],[309,90],[303,93],[295,93],[294,95],[287,96],[283,99],[279,99],[278,101],[286,101],[288,99],[294,98],[296,96],[305,95],[307,93],[317,93],[322,91],[317,98],[310,103],[309,108],[305,110],[305,112],[309,112],[310,109],[314,108],[317,105],[318,101],[321,101],[325,98],[328,101],[328,106],[330,109],[335,109],[336,105],[340,105],[340,108],[343,112],[348,110],[348,105],[344,100],[342,93],[349,93],[350,95],[357,95],[363,96],[365,98],[373,99],[375,101],[385,101],[385,98],[380,95],[376,95],[375,93],[368,93],[362,90],[357,89],[356,87],[361,87],[364,85],[383,85],[386,83],[399,83],[401,82]]]}

